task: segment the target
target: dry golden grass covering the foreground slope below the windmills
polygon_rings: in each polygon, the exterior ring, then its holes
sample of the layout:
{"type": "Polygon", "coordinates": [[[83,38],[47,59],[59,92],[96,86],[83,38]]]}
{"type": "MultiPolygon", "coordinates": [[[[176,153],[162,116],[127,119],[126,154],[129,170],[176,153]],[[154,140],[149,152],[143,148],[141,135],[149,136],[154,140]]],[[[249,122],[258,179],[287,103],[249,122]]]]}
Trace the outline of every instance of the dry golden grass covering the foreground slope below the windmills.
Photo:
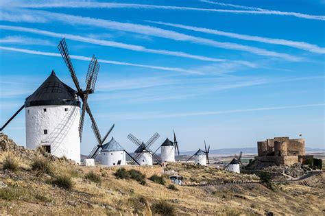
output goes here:
{"type": "MultiPolygon", "coordinates": [[[[1,157],[1,156],[0,156],[1,157]]],[[[1,161],[1,160],[0,160],[1,161]]],[[[24,163],[30,163],[25,161],[24,163]]],[[[23,166],[23,164],[21,164],[23,166]]],[[[191,165],[170,165],[186,178],[200,180],[246,180],[255,178],[205,167],[198,169],[191,165]],[[184,166],[184,168],[183,168],[184,166]],[[205,177],[203,177],[205,176],[205,177]]],[[[154,215],[165,204],[173,206],[172,213],[191,215],[265,215],[265,211],[277,214],[322,215],[324,208],[324,174],[315,177],[312,185],[276,185],[271,191],[261,184],[228,185],[226,187],[177,187],[173,191],[161,184],[147,181],[141,185],[132,179],[119,179],[115,172],[119,167],[75,167],[63,162],[53,163],[53,176],[36,176],[34,172],[21,170],[10,178],[0,179],[8,189],[0,193],[0,214],[9,215],[154,215]],[[101,184],[85,181],[84,176],[93,171],[101,176],[101,184]],[[54,187],[51,180],[66,173],[71,181],[71,190],[54,187]],[[8,192],[11,191],[11,192],[8,192]],[[164,200],[164,205],[159,205],[164,200]],[[46,205],[45,205],[46,204],[46,205]],[[244,214],[243,214],[244,213],[244,214]]],[[[136,169],[147,176],[160,176],[161,168],[125,167],[125,171],[136,169]]],[[[0,170],[0,176],[4,176],[0,170]]],[[[167,185],[171,182],[167,180],[167,185]]],[[[59,183],[61,184],[61,183],[59,183]]],[[[65,184],[65,183],[64,183],[65,184]]],[[[63,185],[64,185],[63,184],[63,185]]],[[[0,191],[3,191],[0,189],[0,191]]],[[[161,213],[160,213],[161,214],[161,213]]]]}

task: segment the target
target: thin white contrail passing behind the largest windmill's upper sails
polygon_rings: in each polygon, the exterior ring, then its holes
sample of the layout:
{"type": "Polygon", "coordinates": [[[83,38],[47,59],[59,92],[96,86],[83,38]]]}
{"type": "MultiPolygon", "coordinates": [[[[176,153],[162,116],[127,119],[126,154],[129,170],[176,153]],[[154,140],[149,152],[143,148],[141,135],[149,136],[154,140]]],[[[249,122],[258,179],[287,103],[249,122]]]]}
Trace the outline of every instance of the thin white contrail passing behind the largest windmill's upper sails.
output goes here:
{"type": "MultiPolygon", "coordinates": [[[[0,49],[7,50],[7,51],[16,51],[20,53],[29,53],[34,55],[40,55],[40,56],[55,56],[55,57],[61,57],[59,53],[50,53],[50,52],[43,52],[43,51],[36,51],[31,49],[19,49],[14,47],[3,47],[0,46],[0,49]]],[[[70,56],[72,59],[76,60],[84,60],[84,61],[90,61],[91,58],[86,56],[70,56]]],[[[148,64],[133,64],[129,62],[117,62],[117,61],[111,61],[111,60],[104,60],[104,59],[98,59],[98,62],[106,63],[106,64],[117,64],[117,65],[125,65],[125,66],[133,66],[133,67],[144,67],[148,69],[157,69],[157,70],[163,70],[163,71],[176,71],[181,73],[191,73],[191,74],[202,74],[200,71],[193,71],[193,70],[187,70],[187,69],[180,69],[178,67],[160,67],[160,66],[154,66],[154,65],[148,65],[148,64]]]]}

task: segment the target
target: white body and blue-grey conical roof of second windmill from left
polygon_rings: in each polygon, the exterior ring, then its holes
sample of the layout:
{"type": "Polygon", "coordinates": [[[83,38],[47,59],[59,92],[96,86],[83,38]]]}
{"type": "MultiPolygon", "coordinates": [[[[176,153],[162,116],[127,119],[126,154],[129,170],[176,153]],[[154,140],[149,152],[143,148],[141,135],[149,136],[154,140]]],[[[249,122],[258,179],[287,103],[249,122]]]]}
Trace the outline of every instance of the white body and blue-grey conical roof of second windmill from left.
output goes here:
{"type": "Polygon", "coordinates": [[[114,137],[101,149],[101,164],[108,166],[126,165],[124,149],[115,141],[114,137]]]}

